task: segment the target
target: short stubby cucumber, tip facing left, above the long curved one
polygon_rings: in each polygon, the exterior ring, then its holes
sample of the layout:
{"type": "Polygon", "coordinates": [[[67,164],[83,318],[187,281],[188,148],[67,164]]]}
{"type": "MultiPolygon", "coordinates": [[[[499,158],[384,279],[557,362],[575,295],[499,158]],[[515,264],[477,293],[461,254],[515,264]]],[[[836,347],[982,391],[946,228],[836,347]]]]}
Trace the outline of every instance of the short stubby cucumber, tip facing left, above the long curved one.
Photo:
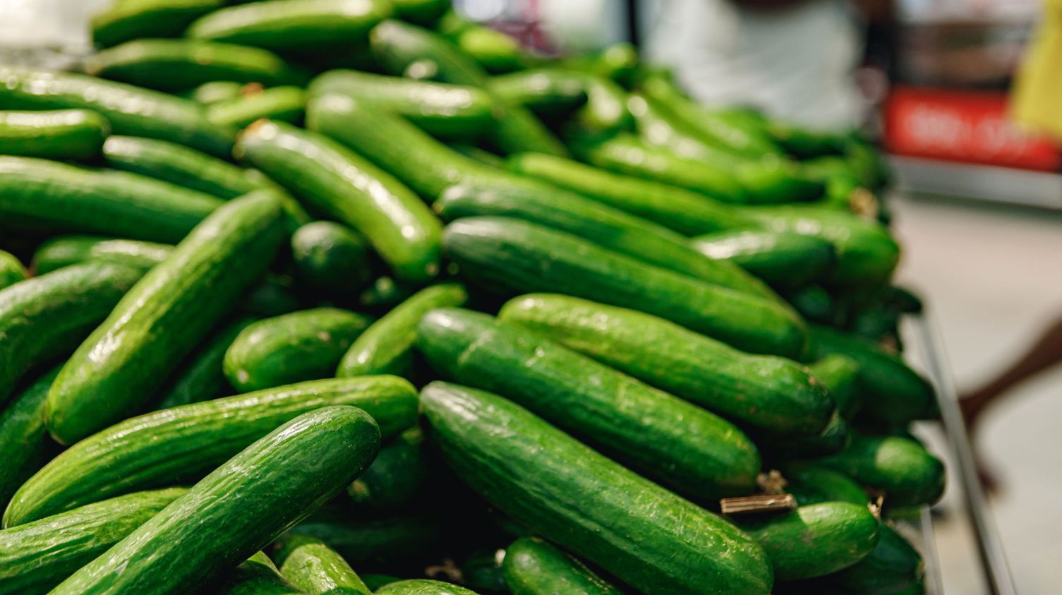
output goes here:
{"type": "Polygon", "coordinates": [[[239,391],[326,378],[370,319],[313,308],[249,325],[225,351],[225,377],[239,391]]]}

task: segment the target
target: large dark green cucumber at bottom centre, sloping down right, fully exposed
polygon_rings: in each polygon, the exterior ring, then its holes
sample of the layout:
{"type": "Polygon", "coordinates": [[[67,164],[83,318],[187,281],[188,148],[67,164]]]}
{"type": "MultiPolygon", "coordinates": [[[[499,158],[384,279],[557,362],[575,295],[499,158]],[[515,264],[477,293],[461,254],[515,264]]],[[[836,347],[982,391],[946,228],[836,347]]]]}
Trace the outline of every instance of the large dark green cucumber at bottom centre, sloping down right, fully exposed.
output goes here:
{"type": "Polygon", "coordinates": [[[769,562],[749,536],[526,409],[444,382],[425,387],[421,403],[459,477],[631,586],[658,595],[770,592],[769,562]]]}

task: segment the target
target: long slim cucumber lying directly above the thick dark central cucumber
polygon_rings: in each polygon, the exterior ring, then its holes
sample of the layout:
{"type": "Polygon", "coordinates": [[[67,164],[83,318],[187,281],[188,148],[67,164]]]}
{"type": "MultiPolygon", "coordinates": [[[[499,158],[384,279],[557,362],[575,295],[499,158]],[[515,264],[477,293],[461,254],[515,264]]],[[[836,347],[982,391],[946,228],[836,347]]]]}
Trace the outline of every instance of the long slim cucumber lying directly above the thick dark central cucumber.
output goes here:
{"type": "Polygon", "coordinates": [[[648,265],[781,302],[773,291],[739,267],[705,257],[690,248],[686,238],[667,227],[573,192],[509,184],[463,185],[443,192],[433,208],[447,221],[493,216],[536,223],[648,265]]]}

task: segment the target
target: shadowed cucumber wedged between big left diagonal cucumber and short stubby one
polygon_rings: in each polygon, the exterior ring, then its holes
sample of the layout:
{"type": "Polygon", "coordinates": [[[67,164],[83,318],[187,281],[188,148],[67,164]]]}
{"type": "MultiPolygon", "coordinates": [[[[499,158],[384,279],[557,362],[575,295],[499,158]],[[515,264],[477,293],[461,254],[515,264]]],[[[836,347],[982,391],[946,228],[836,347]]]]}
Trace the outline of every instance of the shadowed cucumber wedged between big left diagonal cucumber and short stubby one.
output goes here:
{"type": "Polygon", "coordinates": [[[222,368],[225,351],[237,335],[257,320],[255,317],[238,318],[207,337],[167,380],[166,387],[159,391],[161,396],[157,408],[169,409],[233,394],[222,368]]]}

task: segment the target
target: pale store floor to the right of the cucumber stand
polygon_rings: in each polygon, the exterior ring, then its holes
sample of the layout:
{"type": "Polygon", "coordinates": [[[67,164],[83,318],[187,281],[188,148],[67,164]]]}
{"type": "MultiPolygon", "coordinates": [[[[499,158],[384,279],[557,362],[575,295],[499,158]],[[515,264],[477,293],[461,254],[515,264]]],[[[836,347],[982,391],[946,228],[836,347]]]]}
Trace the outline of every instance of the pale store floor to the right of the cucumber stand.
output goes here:
{"type": "MultiPolygon", "coordinates": [[[[1062,317],[1062,214],[921,197],[894,204],[905,249],[898,280],[931,307],[960,392],[993,377],[1062,317]]],[[[1023,595],[1062,584],[1060,426],[1062,366],[1014,389],[975,440],[1000,480],[991,511],[1023,595]]],[[[956,483],[937,509],[944,593],[980,595],[988,590],[956,483]]]]}

